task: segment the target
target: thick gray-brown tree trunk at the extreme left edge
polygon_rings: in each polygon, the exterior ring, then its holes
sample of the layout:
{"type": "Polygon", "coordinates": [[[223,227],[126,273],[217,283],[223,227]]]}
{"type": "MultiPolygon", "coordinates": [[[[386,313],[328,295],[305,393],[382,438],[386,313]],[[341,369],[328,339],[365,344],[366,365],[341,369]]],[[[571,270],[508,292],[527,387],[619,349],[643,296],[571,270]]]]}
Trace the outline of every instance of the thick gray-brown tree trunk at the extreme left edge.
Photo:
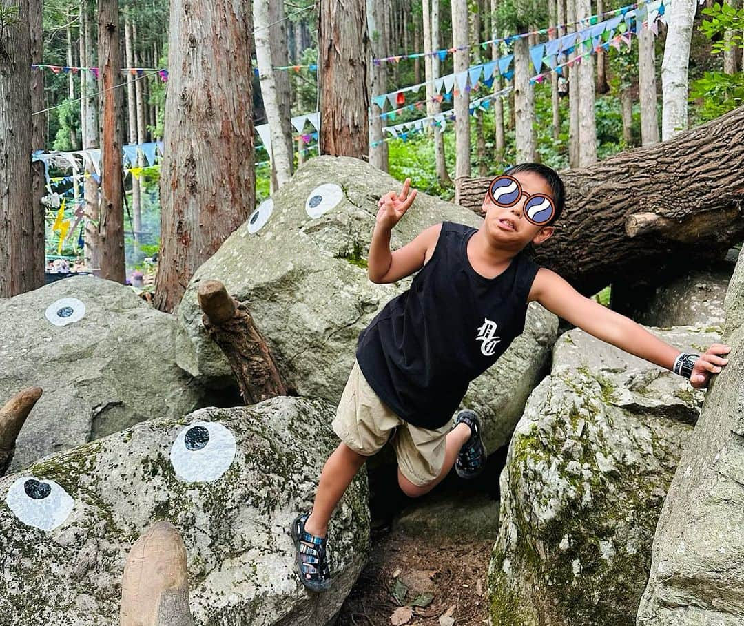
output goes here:
{"type": "Polygon", "coordinates": [[[9,7],[18,9],[0,28],[0,297],[36,286],[28,0],[0,0],[0,8],[9,7]]]}

